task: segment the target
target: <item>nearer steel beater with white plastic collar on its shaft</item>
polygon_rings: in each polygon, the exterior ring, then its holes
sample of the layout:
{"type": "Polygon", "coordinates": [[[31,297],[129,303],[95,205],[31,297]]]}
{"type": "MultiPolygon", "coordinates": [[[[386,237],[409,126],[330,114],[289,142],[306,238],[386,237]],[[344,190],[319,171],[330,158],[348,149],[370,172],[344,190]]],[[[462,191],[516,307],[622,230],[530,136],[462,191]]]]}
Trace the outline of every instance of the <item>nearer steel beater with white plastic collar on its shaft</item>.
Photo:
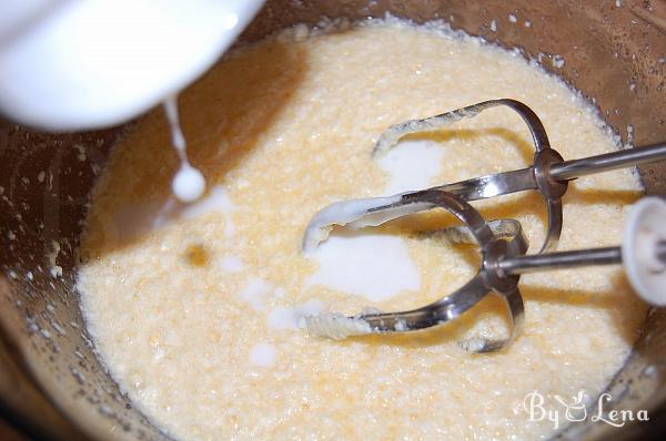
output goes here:
{"type": "MultiPolygon", "coordinates": [[[[351,204],[357,201],[350,202],[351,204]]],[[[524,273],[623,264],[634,289],[655,306],[666,306],[666,202],[646,197],[636,204],[622,247],[525,255],[527,239],[519,222],[486,222],[461,196],[431,188],[400,195],[397,198],[362,199],[363,207],[350,211],[347,225],[376,226],[407,214],[444,208],[463,223],[434,234],[454,242],[476,242],[482,263],[478,273],[463,287],[427,306],[400,312],[370,311],[353,317],[322,314],[305,317],[309,332],[342,339],[350,336],[406,332],[430,328],[460,317],[488,294],[504,299],[511,319],[511,334],[505,339],[473,338],[463,342],[472,352],[490,352],[504,348],[519,332],[524,321],[523,298],[518,289],[524,273]],[[352,214],[353,212],[353,214],[352,214]]],[[[344,203],[339,203],[344,204],[344,203]]],[[[335,211],[341,206],[335,207],[335,211]]],[[[321,212],[320,212],[321,213],[321,212]]],[[[324,213],[326,214],[326,213],[324,213]]],[[[325,224],[311,224],[305,240],[325,224]]],[[[433,233],[430,233],[433,234],[433,233]]],[[[312,243],[311,243],[312,245],[312,243]]]]}

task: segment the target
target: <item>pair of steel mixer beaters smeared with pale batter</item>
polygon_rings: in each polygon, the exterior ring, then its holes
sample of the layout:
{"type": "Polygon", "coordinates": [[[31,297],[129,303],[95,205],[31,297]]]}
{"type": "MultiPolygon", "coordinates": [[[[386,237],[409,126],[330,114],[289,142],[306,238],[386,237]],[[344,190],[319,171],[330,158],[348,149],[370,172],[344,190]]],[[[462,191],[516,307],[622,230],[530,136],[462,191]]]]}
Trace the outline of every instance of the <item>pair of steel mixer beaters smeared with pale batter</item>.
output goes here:
{"type": "Polygon", "coordinates": [[[394,125],[382,134],[373,154],[386,151],[406,134],[446,126],[498,105],[516,111],[529,127],[536,147],[532,166],[395,196],[333,203],[312,218],[303,239],[303,252],[307,254],[325,240],[333,225],[351,228],[379,226],[397,217],[440,207],[453,214],[463,226],[430,234],[453,243],[476,243],[482,255],[477,274],[455,293],[417,309],[400,312],[369,310],[353,317],[336,312],[306,317],[305,327],[311,334],[342,339],[425,329],[460,317],[493,293],[501,296],[506,305],[511,324],[508,338],[472,338],[464,341],[463,347],[471,352],[496,351],[519,334],[524,322],[523,298],[518,289],[522,274],[592,265],[623,264],[632,286],[642,298],[654,306],[666,305],[666,202],[657,197],[646,197],[635,205],[625,227],[622,247],[553,252],[562,232],[562,196],[568,181],[666,160],[666,144],[564,161],[549,146],[536,114],[518,101],[503,99],[394,125]],[[525,254],[528,243],[517,221],[486,222],[468,203],[526,189],[537,189],[543,195],[548,214],[545,240],[535,255],[525,254]]]}

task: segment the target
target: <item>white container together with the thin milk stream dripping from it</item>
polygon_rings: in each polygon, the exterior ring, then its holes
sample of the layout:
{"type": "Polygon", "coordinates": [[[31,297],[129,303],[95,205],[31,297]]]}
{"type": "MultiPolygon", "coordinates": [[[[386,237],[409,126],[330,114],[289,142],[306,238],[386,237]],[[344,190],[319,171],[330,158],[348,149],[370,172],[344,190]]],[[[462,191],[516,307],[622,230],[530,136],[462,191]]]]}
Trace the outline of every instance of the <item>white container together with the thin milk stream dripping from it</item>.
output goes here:
{"type": "Polygon", "coordinates": [[[199,198],[178,92],[203,74],[263,0],[4,0],[0,4],[0,113],[51,131],[125,122],[164,102],[181,160],[172,188],[199,198]]]}

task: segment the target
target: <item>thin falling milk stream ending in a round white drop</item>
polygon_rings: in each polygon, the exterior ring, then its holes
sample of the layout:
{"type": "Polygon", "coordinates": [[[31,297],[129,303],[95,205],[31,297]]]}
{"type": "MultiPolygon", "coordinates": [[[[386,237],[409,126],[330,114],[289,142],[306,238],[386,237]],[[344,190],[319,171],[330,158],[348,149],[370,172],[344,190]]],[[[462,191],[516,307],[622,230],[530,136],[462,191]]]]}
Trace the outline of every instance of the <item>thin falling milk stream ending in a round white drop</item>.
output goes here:
{"type": "Polygon", "coordinates": [[[203,174],[190,164],[188,144],[178,117],[178,96],[171,95],[164,100],[164,112],[171,126],[171,142],[178,152],[181,165],[171,183],[173,195],[183,203],[191,203],[201,197],[205,191],[203,174]]]}

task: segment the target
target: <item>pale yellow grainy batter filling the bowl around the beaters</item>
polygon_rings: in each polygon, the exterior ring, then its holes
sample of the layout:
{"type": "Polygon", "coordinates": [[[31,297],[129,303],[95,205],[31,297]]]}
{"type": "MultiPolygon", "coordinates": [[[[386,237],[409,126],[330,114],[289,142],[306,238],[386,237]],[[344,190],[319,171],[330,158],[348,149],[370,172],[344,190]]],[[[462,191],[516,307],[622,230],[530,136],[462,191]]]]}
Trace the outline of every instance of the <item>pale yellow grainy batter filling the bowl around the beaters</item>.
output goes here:
{"type": "MultiPolygon", "coordinates": [[[[406,140],[413,160],[371,157],[391,124],[502,96],[534,109],[567,158],[617,148],[554,78],[433,27],[375,22],[317,35],[297,27],[228,55],[180,98],[191,161],[209,183],[204,198],[181,205],[170,194],[179,163],[160,111],[127,135],[95,191],[79,289],[113,378],[178,439],[551,434],[552,422],[528,420],[525,396],[596,397],[637,338],[646,308],[619,267],[524,276],[525,330],[494,355],[458,345],[506,331],[492,297],[461,320],[408,336],[333,341],[295,326],[321,310],[422,306],[476,271],[473,248],[412,234],[448,225],[438,213],[370,232],[408,259],[397,293],[324,283],[325,261],[303,258],[301,240],[326,204],[406,189],[420,170],[436,184],[527,165],[528,132],[506,110],[406,140]]],[[[638,196],[628,171],[572,183],[561,249],[619,244],[638,196]]],[[[518,218],[533,248],[541,244],[538,195],[475,205],[488,218],[518,218]]]]}

